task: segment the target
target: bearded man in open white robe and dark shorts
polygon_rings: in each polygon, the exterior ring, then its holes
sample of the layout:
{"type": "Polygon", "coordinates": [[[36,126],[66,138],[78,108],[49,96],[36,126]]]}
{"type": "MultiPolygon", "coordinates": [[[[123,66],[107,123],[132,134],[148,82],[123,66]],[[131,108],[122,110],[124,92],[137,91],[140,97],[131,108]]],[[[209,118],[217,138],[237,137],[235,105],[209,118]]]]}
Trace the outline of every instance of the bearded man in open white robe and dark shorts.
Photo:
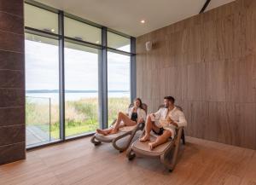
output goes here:
{"type": "Polygon", "coordinates": [[[156,113],[149,114],[145,125],[145,135],[140,139],[140,142],[150,141],[149,133],[151,130],[159,135],[154,142],[148,143],[150,150],[167,142],[169,137],[173,139],[177,127],[187,126],[184,113],[174,106],[175,99],[172,96],[166,96],[164,102],[164,108],[160,108],[156,113]]]}

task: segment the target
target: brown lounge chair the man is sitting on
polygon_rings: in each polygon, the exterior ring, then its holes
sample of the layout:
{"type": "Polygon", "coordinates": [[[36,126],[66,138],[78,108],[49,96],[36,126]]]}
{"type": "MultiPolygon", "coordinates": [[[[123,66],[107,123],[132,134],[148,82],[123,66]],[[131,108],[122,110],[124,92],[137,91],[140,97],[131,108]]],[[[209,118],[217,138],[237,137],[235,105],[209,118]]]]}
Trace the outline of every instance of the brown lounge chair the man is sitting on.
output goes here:
{"type": "MultiPolygon", "coordinates": [[[[181,107],[177,108],[182,111],[181,107]]],[[[142,136],[144,135],[144,132],[145,130],[143,130],[142,136]]],[[[150,141],[154,141],[156,137],[157,136],[151,131],[150,141]]],[[[183,127],[177,128],[176,136],[174,136],[173,140],[170,138],[168,142],[161,144],[158,147],[154,147],[154,150],[148,149],[148,142],[140,142],[139,139],[137,139],[126,151],[126,157],[129,160],[134,159],[136,155],[160,158],[161,163],[165,165],[169,171],[173,171],[177,162],[177,153],[181,139],[183,140],[183,144],[185,144],[183,127]]]]}

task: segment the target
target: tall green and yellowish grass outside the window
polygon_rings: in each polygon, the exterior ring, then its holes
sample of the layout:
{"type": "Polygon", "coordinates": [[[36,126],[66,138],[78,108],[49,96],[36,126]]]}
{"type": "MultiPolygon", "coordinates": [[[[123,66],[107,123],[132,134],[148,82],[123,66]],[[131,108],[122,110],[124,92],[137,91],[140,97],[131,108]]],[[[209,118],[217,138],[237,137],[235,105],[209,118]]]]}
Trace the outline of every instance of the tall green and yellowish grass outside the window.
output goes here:
{"type": "MultiPolygon", "coordinates": [[[[45,100],[44,100],[45,101],[45,100]]],[[[108,98],[108,124],[116,119],[119,111],[126,112],[130,99],[108,98]]],[[[84,98],[78,101],[66,101],[65,105],[66,136],[75,136],[94,131],[99,127],[97,98],[84,98]]],[[[59,107],[42,101],[26,100],[26,125],[37,125],[44,132],[49,132],[53,140],[60,138],[59,107]],[[50,116],[49,116],[50,112],[50,116]]]]}

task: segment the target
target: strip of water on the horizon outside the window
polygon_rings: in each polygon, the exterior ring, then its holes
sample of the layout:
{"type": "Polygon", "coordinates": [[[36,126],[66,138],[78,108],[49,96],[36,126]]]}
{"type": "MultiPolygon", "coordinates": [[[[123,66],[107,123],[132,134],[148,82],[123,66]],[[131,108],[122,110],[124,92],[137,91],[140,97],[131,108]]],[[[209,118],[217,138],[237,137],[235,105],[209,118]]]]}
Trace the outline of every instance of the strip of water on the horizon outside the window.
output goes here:
{"type": "MultiPolygon", "coordinates": [[[[26,96],[32,98],[42,98],[42,100],[47,101],[50,98],[51,103],[58,104],[59,94],[58,93],[26,93],[26,96]]],[[[79,101],[84,98],[96,98],[98,93],[66,93],[65,101],[79,101]]],[[[110,92],[108,97],[130,97],[130,92],[110,92]]]]}

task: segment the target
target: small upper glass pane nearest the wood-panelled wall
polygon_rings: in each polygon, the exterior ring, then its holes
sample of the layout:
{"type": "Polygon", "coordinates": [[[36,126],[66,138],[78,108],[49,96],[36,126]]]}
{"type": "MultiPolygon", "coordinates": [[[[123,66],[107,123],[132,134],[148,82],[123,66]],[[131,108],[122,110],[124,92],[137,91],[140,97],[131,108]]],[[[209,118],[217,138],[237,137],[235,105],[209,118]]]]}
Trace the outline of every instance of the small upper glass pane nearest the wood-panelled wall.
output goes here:
{"type": "Polygon", "coordinates": [[[122,37],[113,32],[108,32],[108,47],[131,52],[131,39],[122,37]]]}

